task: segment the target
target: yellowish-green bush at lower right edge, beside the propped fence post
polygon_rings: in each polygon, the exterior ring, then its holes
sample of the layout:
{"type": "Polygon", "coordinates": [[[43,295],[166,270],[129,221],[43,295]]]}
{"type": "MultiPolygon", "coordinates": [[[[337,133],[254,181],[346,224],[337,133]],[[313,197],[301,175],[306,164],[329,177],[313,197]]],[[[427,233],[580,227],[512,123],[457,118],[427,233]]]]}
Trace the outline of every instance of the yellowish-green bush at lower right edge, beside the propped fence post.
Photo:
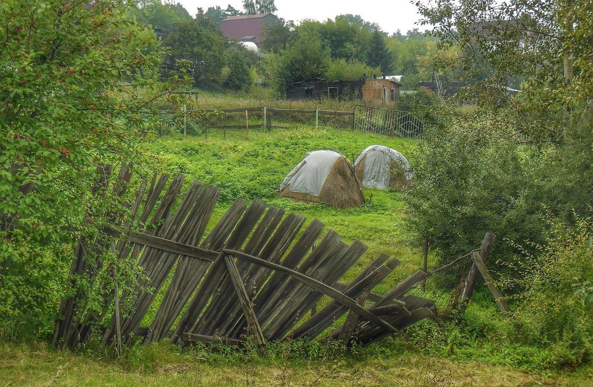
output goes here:
{"type": "Polygon", "coordinates": [[[552,349],[554,364],[576,367],[593,361],[593,302],[586,283],[593,278],[593,225],[577,218],[573,225],[549,220],[546,245],[524,253],[513,265],[524,289],[515,318],[527,340],[552,349]]]}

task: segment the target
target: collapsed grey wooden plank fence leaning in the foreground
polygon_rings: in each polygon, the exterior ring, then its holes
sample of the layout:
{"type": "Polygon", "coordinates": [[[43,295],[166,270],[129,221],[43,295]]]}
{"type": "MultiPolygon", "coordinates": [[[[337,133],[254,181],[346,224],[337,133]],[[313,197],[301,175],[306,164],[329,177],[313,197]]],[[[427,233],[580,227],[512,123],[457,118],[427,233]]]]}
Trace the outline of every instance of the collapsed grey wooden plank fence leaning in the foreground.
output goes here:
{"type": "MultiPolygon", "coordinates": [[[[110,173],[111,167],[103,168],[100,185],[107,186],[110,173]]],[[[123,167],[115,189],[123,192],[130,175],[123,167]]],[[[400,263],[381,254],[352,282],[341,284],[366,246],[358,241],[346,245],[332,230],[320,239],[325,227],[320,221],[302,230],[302,215],[285,214],[258,199],[249,205],[237,199],[205,235],[220,190],[193,182],[181,198],[184,176],[177,175],[165,190],[167,180],[167,175],[155,175],[147,188],[145,179],[130,205],[135,221],[157,227],[139,233],[130,227],[127,235],[111,233],[106,239],[81,238],[75,250],[72,286],[79,275],[93,280],[87,252],[113,245],[119,257],[137,256],[145,273],[141,286],[118,294],[132,296],[133,306],[104,313],[108,317],[103,322],[103,315],[82,318],[76,305],[85,294],[78,291],[62,301],[54,345],[74,348],[92,337],[119,343],[141,336],[144,344],[166,339],[183,347],[196,341],[249,340],[262,348],[270,340],[314,340],[320,335],[366,345],[436,312],[434,301],[407,294],[426,277],[424,271],[383,295],[371,293],[400,263]],[[164,296],[155,299],[157,294],[164,296]],[[318,310],[324,296],[331,301],[318,310]],[[99,323],[106,328],[97,329],[99,323]]]]}

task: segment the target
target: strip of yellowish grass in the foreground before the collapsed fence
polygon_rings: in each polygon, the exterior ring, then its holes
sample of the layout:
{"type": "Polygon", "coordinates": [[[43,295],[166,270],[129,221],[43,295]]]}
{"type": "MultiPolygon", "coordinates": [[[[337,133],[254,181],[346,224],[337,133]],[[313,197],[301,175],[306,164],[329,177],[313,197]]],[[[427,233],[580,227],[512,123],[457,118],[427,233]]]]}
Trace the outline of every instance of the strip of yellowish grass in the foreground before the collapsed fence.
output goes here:
{"type": "MultiPolygon", "coordinates": [[[[228,348],[179,352],[163,344],[71,353],[43,344],[0,343],[2,386],[590,386],[590,373],[535,375],[480,361],[427,356],[389,341],[342,359],[291,360],[291,348],[265,357],[228,348]]],[[[321,349],[323,351],[323,349],[321,349]]]]}

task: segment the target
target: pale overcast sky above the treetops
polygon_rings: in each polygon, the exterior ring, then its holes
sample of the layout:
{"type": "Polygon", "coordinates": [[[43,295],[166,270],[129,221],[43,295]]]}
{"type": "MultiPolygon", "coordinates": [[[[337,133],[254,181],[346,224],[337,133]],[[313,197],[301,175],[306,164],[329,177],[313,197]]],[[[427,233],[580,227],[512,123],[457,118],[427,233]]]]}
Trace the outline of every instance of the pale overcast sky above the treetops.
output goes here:
{"type": "MultiPolygon", "coordinates": [[[[202,7],[204,11],[208,7],[219,5],[222,9],[230,4],[232,7],[243,11],[243,1],[241,0],[174,0],[181,5],[190,15],[196,14],[197,7],[202,7]]],[[[425,27],[415,25],[420,19],[415,5],[410,4],[409,0],[275,0],[278,11],[274,12],[276,16],[284,20],[294,20],[298,24],[303,19],[313,19],[325,21],[328,18],[335,18],[336,15],[353,14],[361,17],[371,23],[377,23],[381,30],[389,34],[401,30],[405,34],[408,30],[419,28],[420,31],[425,27]]]]}

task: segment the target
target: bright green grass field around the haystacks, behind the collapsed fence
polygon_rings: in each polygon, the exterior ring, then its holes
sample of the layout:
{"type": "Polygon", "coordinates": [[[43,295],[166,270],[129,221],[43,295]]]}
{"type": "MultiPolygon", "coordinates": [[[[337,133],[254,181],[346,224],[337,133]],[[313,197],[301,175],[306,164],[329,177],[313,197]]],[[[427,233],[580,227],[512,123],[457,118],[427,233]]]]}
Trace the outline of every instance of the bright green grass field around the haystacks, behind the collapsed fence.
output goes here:
{"type": "Polygon", "coordinates": [[[250,131],[248,139],[243,131],[228,132],[227,138],[222,137],[221,131],[216,134],[209,138],[161,138],[151,145],[155,167],[162,172],[183,173],[187,177],[186,184],[200,180],[221,188],[221,199],[211,226],[234,199],[259,198],[287,212],[302,214],[308,222],[317,218],[326,224],[326,230],[333,229],[346,243],[358,239],[369,246],[345,280],[357,275],[380,253],[397,256],[402,261],[392,282],[422,267],[422,252],[410,245],[398,192],[364,189],[367,203],[363,207],[339,210],[277,196],[286,174],[308,151],[333,149],[353,160],[369,145],[381,144],[406,156],[415,146],[415,140],[303,127],[250,131]]]}

